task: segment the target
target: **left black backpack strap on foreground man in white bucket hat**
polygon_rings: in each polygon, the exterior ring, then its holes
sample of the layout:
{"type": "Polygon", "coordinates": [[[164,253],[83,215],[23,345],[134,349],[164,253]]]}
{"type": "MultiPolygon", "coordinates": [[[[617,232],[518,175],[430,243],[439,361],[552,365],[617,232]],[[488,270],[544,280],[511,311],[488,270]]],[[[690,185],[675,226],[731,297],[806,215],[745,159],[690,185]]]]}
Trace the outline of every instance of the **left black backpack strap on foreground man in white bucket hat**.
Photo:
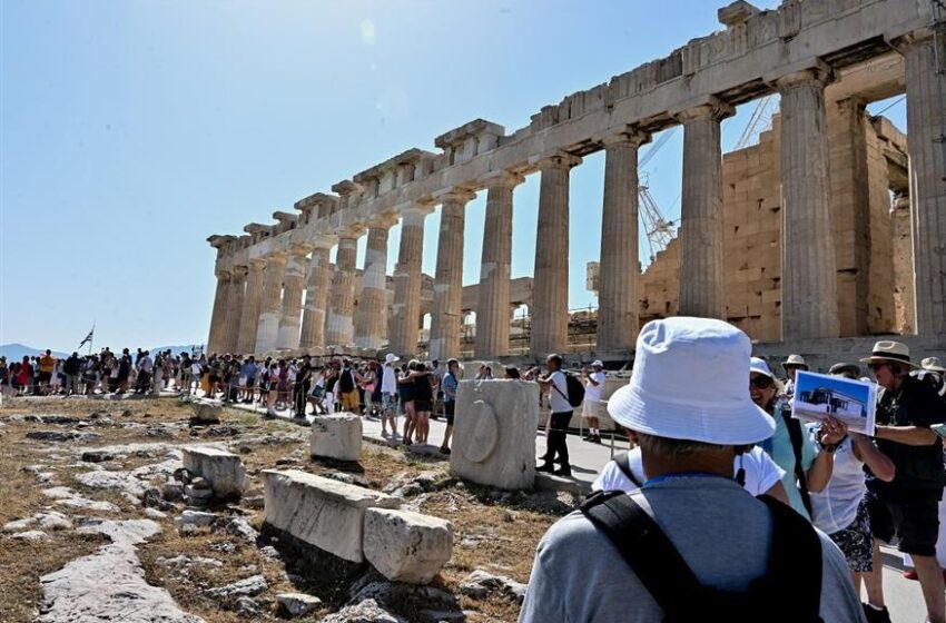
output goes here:
{"type": "Polygon", "coordinates": [[[614,544],[667,621],[700,620],[697,609],[703,604],[693,599],[701,589],[697,576],[632,496],[620,491],[595,493],[581,512],[614,544]]]}

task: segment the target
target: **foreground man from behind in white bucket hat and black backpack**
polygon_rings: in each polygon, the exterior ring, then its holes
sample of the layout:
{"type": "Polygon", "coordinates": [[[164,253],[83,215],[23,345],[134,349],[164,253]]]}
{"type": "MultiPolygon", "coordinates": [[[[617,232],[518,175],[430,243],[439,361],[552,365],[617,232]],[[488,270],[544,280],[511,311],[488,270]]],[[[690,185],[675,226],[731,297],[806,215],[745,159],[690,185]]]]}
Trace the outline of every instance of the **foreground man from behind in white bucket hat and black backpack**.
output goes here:
{"type": "Polygon", "coordinates": [[[732,478],[735,446],[775,427],[746,389],[750,349],[720,320],[644,325],[608,412],[637,433],[649,479],[593,496],[549,530],[520,622],[863,621],[834,543],[732,478]]]}

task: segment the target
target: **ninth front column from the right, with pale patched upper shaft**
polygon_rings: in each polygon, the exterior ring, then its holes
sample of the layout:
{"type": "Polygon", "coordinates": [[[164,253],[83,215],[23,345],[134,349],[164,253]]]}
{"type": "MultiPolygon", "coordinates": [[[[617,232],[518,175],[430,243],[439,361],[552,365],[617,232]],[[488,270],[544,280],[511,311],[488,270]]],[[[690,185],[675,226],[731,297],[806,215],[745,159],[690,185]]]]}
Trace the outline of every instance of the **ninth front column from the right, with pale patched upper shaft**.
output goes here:
{"type": "Polygon", "coordinates": [[[368,225],[362,295],[355,313],[355,344],[378,349],[383,344],[387,296],[387,234],[397,222],[392,216],[378,217],[368,225]]]}

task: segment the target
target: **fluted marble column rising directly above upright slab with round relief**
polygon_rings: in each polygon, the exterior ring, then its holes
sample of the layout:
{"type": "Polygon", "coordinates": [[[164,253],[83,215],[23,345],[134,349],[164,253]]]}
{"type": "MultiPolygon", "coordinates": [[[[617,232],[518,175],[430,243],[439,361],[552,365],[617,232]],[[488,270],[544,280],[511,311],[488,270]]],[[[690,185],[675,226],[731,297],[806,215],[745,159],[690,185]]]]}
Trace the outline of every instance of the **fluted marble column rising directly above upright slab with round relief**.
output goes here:
{"type": "Polygon", "coordinates": [[[486,219],[476,301],[476,357],[509,355],[512,265],[512,192],[523,177],[505,171],[486,179],[486,219]]]}

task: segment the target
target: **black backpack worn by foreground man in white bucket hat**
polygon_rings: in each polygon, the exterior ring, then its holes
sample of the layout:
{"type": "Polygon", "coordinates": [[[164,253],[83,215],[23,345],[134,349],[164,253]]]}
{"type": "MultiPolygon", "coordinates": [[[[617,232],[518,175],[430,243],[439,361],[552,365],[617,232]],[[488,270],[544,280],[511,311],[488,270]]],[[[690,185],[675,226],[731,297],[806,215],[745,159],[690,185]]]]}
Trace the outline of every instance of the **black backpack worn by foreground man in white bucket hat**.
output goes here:
{"type": "Polygon", "coordinates": [[[749,590],[731,592],[700,584],[657,522],[623,492],[600,492],[581,512],[614,544],[621,557],[663,610],[667,623],[693,621],[821,623],[821,542],[805,517],[761,496],[772,516],[766,574],[749,590]],[[794,599],[786,600],[791,586],[794,599]],[[777,607],[773,609],[773,604],[777,607]]]}

